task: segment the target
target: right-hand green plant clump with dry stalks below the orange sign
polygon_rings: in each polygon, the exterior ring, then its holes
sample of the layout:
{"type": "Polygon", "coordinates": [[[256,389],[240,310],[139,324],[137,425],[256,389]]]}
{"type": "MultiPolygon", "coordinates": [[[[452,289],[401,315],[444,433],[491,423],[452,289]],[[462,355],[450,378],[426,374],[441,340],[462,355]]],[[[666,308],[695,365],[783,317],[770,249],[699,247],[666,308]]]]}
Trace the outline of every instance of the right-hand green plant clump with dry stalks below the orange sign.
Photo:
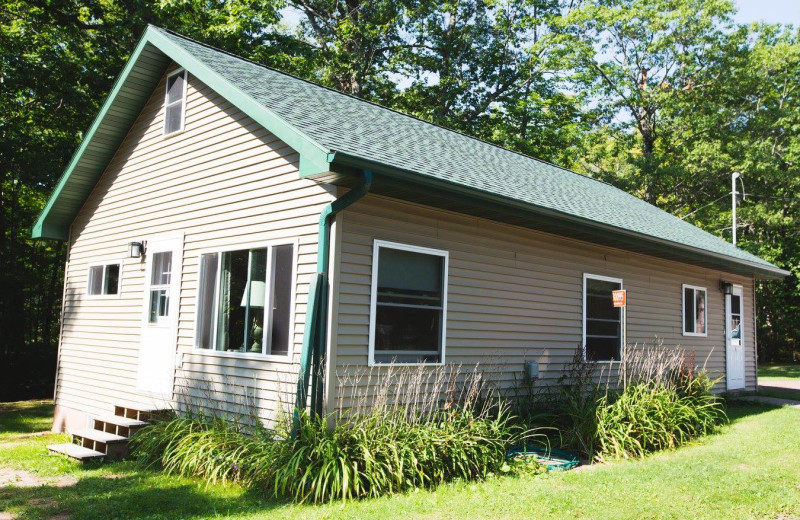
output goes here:
{"type": "Polygon", "coordinates": [[[554,444],[590,460],[639,458],[712,433],[727,420],[711,393],[718,380],[696,366],[693,352],[632,345],[614,368],[584,361],[579,348],[555,390],[537,394],[535,406],[551,412],[535,418],[558,431],[554,444]]]}

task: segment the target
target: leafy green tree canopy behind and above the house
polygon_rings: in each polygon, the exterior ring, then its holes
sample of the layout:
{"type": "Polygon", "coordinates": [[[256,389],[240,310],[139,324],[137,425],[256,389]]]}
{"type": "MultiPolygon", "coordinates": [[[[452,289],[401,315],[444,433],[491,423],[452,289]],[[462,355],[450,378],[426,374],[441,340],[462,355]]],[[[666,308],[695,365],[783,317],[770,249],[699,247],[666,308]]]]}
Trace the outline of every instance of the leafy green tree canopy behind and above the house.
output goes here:
{"type": "Polygon", "coordinates": [[[740,172],[739,245],[793,273],[758,286],[762,359],[800,355],[800,32],[734,14],[730,0],[5,2],[0,378],[44,376],[0,400],[51,384],[34,362],[54,363],[65,250],[29,229],[148,23],[596,177],[723,238],[740,172]]]}

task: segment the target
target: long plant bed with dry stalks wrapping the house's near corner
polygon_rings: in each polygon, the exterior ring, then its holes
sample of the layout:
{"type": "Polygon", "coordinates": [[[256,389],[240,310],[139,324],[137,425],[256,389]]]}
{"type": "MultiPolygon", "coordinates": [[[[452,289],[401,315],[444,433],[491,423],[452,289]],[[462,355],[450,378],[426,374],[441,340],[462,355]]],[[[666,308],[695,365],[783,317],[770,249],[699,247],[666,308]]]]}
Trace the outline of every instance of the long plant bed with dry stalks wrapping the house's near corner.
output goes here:
{"type": "Polygon", "coordinates": [[[329,417],[301,414],[294,438],[286,426],[189,414],[142,429],[132,447],[169,473],[324,502],[483,479],[508,470],[511,445],[535,440],[478,367],[422,368],[349,371],[340,383],[375,394],[353,394],[329,417]]]}

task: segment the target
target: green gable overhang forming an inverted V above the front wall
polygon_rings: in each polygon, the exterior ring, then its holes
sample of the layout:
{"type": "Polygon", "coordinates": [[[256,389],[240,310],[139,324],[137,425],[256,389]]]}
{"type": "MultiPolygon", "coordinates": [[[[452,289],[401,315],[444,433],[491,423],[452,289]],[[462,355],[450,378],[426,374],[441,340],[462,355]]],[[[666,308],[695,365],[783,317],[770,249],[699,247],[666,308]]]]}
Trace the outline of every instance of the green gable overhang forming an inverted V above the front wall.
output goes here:
{"type": "Polygon", "coordinates": [[[34,224],[33,238],[66,240],[69,226],[171,62],[176,62],[300,154],[300,172],[328,171],[332,154],[199,59],[148,27],[34,224]]]}

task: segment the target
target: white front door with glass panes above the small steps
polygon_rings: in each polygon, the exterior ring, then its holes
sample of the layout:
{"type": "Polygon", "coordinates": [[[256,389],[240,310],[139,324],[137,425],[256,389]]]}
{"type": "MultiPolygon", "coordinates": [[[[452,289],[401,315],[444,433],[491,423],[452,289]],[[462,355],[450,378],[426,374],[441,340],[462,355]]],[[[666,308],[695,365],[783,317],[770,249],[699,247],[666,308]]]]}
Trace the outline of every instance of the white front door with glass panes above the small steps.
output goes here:
{"type": "Polygon", "coordinates": [[[147,243],[139,389],[170,397],[174,381],[183,237],[147,243]]]}

